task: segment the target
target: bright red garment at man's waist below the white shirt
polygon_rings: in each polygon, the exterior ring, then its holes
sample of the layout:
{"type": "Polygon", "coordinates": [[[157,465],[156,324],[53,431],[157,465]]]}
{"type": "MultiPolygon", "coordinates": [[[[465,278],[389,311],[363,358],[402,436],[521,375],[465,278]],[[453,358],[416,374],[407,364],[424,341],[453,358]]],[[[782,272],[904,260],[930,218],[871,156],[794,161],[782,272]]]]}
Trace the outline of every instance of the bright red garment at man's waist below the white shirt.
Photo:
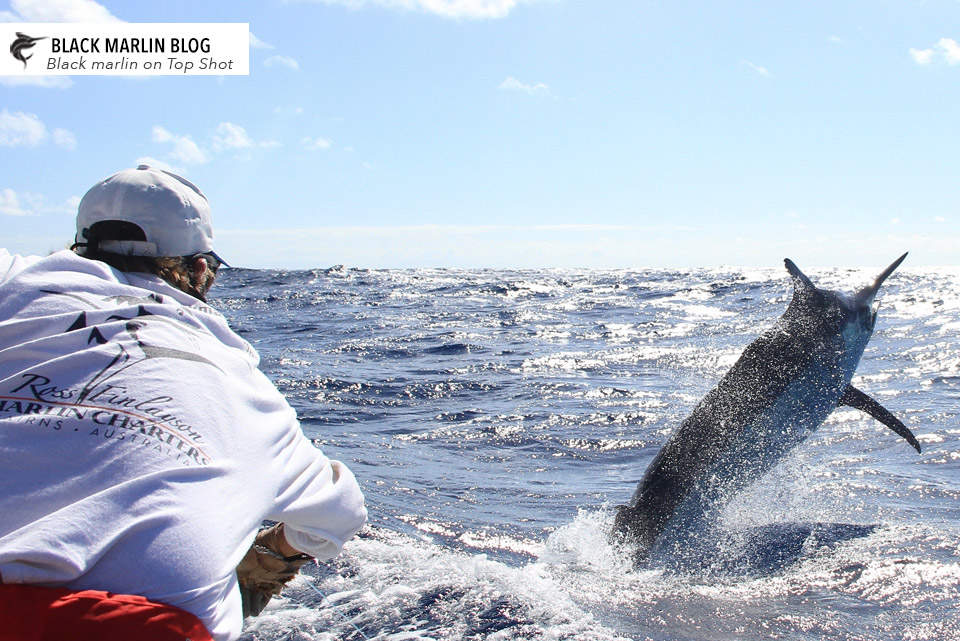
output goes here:
{"type": "Polygon", "coordinates": [[[196,616],[142,596],[0,584],[0,641],[212,641],[196,616]]]}

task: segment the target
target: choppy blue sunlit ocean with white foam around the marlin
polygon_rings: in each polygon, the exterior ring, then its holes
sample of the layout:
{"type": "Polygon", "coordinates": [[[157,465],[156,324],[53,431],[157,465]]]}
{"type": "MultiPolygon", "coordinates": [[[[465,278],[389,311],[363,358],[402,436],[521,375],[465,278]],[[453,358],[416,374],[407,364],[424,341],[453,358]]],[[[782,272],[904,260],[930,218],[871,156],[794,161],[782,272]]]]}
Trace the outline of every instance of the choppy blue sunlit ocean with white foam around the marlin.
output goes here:
{"type": "Polygon", "coordinates": [[[786,309],[785,270],[226,270],[213,303],[370,510],[243,638],[960,639],[960,270],[909,261],[854,384],[923,453],[839,408],[730,504],[731,554],[679,574],[611,545],[614,507],[786,309]]]}

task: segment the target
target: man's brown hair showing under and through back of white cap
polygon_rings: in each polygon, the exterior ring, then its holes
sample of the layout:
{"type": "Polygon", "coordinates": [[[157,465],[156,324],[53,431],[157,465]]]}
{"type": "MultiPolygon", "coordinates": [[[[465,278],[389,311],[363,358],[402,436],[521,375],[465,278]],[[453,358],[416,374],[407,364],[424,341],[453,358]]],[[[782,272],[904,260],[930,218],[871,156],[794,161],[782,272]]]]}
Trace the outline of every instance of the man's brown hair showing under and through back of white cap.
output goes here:
{"type": "Polygon", "coordinates": [[[197,287],[194,285],[192,278],[193,256],[154,258],[152,256],[116,254],[100,249],[100,243],[105,240],[146,240],[147,235],[134,223],[123,220],[103,220],[94,223],[87,231],[86,236],[86,243],[76,243],[72,247],[78,255],[90,260],[99,260],[122,272],[154,274],[177,289],[206,302],[206,292],[210,289],[216,276],[216,273],[210,269],[209,264],[201,286],[197,287]]]}

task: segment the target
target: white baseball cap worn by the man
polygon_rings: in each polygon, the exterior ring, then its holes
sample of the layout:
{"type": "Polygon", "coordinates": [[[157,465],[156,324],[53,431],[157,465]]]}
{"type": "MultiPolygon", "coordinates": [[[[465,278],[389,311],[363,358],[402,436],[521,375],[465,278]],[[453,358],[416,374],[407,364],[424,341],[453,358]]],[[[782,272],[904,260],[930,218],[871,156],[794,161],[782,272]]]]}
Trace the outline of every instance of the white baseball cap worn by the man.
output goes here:
{"type": "Polygon", "coordinates": [[[213,254],[207,197],[169,171],[140,165],[94,185],[80,201],[76,242],[87,242],[85,232],[105,220],[133,223],[147,238],[101,241],[99,248],[106,252],[154,258],[213,254]]]}

